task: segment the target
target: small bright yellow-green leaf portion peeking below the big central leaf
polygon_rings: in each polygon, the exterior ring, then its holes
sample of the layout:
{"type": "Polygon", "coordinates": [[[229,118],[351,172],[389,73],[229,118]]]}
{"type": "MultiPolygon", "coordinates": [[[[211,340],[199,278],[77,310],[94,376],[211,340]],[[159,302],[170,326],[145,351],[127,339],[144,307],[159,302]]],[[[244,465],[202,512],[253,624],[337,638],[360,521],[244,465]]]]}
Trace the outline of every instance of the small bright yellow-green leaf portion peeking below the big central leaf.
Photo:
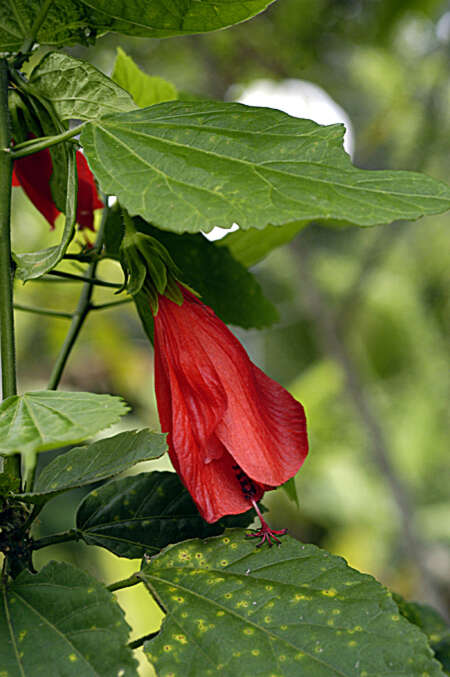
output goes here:
{"type": "Polygon", "coordinates": [[[262,261],[272,249],[290,242],[309,221],[294,221],[285,226],[266,226],[262,231],[236,230],[217,240],[217,246],[229,251],[246,268],[262,261]]]}

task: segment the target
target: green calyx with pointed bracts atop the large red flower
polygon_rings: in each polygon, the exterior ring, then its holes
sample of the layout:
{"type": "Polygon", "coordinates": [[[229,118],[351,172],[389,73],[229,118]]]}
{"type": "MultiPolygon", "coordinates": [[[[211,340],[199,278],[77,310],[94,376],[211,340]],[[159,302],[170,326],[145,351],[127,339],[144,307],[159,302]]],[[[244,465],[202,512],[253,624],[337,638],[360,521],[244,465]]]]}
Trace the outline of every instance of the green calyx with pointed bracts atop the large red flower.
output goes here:
{"type": "Polygon", "coordinates": [[[183,303],[179,287],[180,272],[169,252],[154,237],[136,230],[131,217],[124,212],[125,233],[120,245],[120,262],[129,294],[145,293],[153,315],[158,312],[159,296],[167,296],[177,305],[183,303]]]}

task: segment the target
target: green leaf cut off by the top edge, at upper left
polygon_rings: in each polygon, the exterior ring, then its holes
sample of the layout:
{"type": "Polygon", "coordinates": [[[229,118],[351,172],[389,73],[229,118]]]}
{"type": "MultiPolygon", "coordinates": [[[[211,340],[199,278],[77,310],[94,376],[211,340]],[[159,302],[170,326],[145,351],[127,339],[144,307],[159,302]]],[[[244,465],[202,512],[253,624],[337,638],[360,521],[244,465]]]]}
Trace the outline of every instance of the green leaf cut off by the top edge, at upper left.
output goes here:
{"type": "MultiPolygon", "coordinates": [[[[92,42],[107,31],[164,38],[225,28],[258,14],[273,0],[58,0],[50,3],[37,40],[42,44],[92,42]]],[[[0,4],[0,51],[16,51],[29,35],[41,0],[0,4]]]]}

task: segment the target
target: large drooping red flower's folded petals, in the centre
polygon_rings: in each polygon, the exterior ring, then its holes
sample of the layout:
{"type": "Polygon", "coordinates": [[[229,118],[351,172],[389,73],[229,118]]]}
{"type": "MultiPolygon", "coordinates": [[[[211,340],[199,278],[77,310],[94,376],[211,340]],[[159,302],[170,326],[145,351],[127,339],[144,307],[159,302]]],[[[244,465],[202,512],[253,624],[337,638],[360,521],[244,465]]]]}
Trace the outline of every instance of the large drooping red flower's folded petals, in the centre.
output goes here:
{"type": "Polygon", "coordinates": [[[161,296],[154,318],[156,399],[172,463],[215,522],[296,474],[308,453],[306,421],[211,308],[180,288],[182,305],[161,296]]]}

